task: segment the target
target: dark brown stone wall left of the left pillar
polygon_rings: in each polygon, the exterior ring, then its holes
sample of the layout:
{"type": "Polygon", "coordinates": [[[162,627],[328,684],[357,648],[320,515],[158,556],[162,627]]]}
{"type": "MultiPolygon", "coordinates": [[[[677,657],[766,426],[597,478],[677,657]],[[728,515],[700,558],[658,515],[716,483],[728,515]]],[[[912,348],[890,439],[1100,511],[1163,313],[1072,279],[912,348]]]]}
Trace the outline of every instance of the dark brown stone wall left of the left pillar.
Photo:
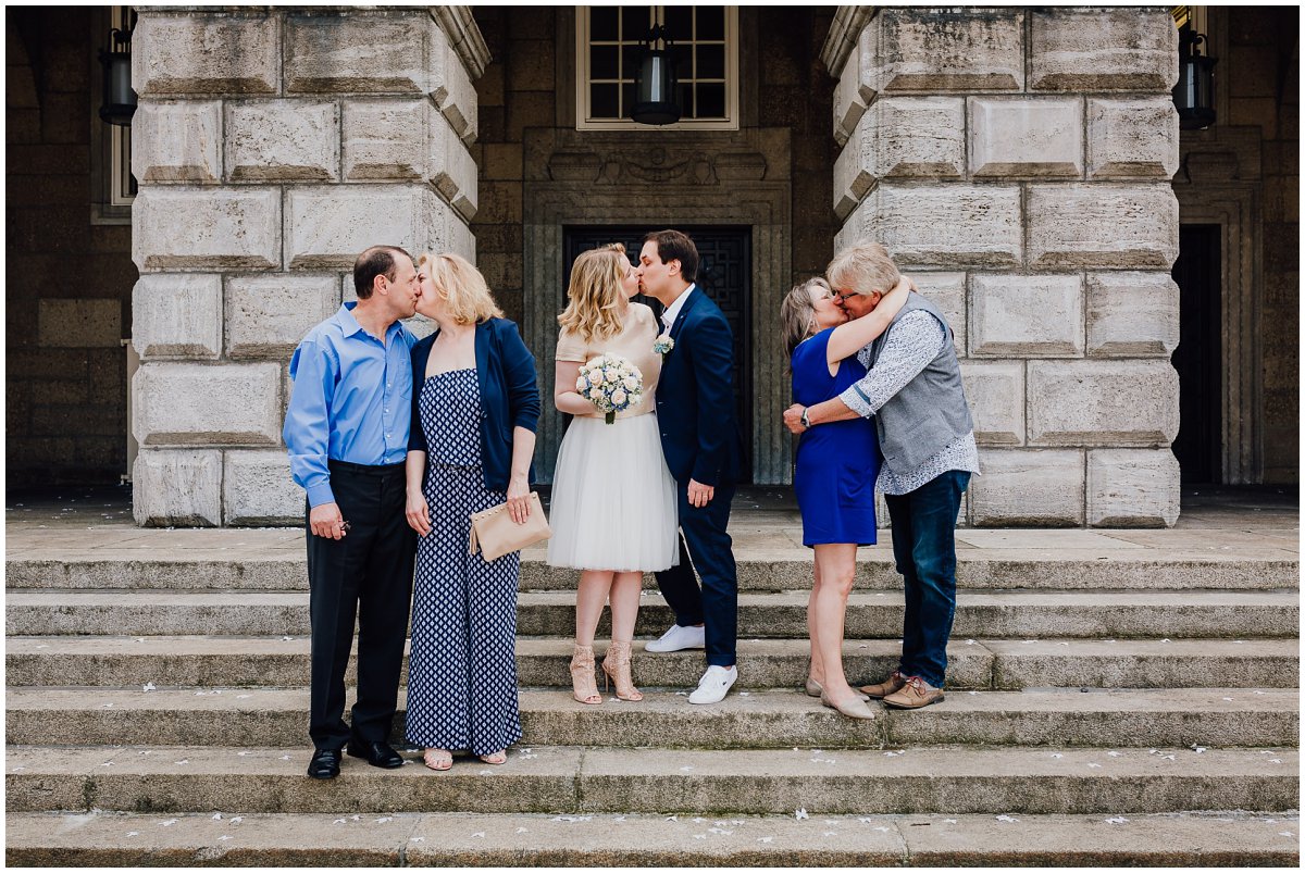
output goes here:
{"type": "Polygon", "coordinates": [[[8,485],[127,472],[130,227],[95,223],[97,13],[5,10],[8,485]]]}

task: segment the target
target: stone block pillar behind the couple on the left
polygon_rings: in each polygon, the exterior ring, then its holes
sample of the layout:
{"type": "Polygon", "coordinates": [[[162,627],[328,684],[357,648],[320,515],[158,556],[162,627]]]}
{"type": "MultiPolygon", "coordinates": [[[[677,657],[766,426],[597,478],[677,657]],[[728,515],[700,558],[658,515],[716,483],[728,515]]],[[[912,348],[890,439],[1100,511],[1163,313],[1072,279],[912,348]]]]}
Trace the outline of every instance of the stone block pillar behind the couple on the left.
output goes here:
{"type": "Polygon", "coordinates": [[[132,40],[134,515],[298,522],[290,355],[368,245],[474,258],[488,52],[466,8],[191,9],[132,40]]]}

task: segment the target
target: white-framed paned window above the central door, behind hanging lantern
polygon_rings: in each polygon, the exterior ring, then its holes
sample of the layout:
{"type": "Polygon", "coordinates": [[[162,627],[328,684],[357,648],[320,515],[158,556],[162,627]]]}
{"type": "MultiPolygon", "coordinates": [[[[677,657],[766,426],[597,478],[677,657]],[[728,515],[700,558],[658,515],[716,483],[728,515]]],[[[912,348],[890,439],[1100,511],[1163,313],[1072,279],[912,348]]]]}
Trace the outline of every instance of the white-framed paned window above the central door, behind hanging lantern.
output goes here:
{"type": "Polygon", "coordinates": [[[649,129],[630,119],[642,43],[662,25],[675,52],[680,120],[662,129],[739,129],[737,7],[578,7],[576,127],[649,129]]]}

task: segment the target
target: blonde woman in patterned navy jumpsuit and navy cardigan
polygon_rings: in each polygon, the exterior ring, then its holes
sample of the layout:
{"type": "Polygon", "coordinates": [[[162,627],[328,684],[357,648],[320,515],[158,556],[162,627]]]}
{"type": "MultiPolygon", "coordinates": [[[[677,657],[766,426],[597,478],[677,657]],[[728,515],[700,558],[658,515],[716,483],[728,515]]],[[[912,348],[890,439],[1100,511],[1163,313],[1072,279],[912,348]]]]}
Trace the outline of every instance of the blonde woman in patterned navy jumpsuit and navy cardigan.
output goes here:
{"type": "Polygon", "coordinates": [[[452,767],[454,749],[504,763],[521,739],[521,552],[487,562],[467,553],[467,538],[471,513],[506,501],[518,523],[530,514],[535,359],[465,258],[423,254],[418,271],[416,311],[436,331],[412,347],[407,522],[419,539],[407,740],[432,770],[452,767]]]}

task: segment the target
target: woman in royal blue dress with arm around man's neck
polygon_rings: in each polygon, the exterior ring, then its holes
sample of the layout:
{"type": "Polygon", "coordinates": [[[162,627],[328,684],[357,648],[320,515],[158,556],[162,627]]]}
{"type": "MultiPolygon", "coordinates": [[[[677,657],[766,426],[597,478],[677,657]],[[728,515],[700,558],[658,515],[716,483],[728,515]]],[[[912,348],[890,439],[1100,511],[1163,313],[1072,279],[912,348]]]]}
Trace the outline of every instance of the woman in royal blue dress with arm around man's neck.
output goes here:
{"type": "MultiPolygon", "coordinates": [[[[788,292],[780,320],[795,403],[813,406],[838,397],[865,376],[856,352],[887,330],[911,288],[895,268],[887,278],[893,291],[855,321],[848,321],[838,295],[822,278],[788,292]]],[[[797,444],[793,491],[803,515],[803,544],[816,552],[816,579],[806,604],[812,641],[806,693],[859,719],[873,719],[874,714],[843,673],[843,620],[856,578],[856,547],[877,542],[878,472],[880,441],[870,419],[821,424],[803,433],[797,444]]]]}

